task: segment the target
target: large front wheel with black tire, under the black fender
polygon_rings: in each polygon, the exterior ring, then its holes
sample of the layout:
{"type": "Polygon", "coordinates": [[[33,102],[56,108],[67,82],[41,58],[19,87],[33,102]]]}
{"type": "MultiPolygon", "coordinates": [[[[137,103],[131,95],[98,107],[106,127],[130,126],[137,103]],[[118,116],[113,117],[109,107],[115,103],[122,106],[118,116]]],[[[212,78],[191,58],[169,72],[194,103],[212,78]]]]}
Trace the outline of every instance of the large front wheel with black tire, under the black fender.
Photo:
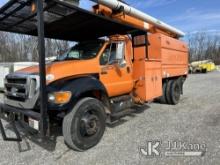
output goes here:
{"type": "Polygon", "coordinates": [[[77,151],[94,147],[105,132],[104,105],[94,98],[81,99],[63,120],[66,144],[77,151]]]}

